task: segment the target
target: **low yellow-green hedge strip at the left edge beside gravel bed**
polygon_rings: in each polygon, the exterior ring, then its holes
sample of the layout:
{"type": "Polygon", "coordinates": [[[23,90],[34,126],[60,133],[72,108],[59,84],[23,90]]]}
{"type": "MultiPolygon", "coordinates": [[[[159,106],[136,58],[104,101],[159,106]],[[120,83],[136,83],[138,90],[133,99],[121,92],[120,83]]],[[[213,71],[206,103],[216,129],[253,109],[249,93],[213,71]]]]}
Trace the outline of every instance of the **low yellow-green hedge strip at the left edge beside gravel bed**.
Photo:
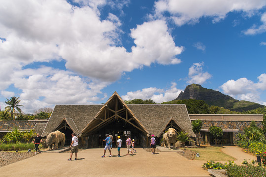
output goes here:
{"type": "Polygon", "coordinates": [[[1,144],[0,151],[12,151],[12,150],[28,150],[34,149],[35,145],[33,143],[8,143],[1,144]]]}

